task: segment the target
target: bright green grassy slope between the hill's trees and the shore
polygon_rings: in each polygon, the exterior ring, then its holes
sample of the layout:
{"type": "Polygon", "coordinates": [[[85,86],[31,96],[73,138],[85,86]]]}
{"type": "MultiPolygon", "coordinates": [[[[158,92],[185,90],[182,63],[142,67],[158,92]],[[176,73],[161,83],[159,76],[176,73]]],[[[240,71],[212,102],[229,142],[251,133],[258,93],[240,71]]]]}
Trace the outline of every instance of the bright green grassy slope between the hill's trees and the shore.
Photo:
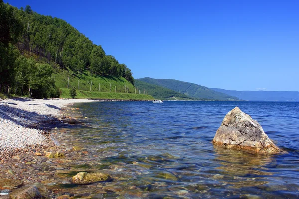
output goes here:
{"type": "Polygon", "coordinates": [[[122,100],[152,100],[154,99],[150,95],[136,95],[135,87],[121,76],[100,76],[92,75],[89,71],[85,71],[82,74],[78,74],[71,70],[61,69],[53,61],[47,62],[45,57],[37,56],[34,53],[22,51],[22,54],[29,58],[33,57],[37,62],[48,63],[54,68],[53,77],[55,78],[55,85],[61,89],[62,98],[70,98],[69,90],[67,89],[67,81],[69,77],[69,88],[78,89],[79,80],[79,91],[77,90],[77,98],[102,98],[102,99],[122,99],[122,100]],[[90,83],[92,82],[91,92],[90,83]],[[111,92],[109,87],[111,83],[111,92]],[[100,84],[100,92],[99,91],[100,84]],[[126,85],[126,93],[125,93],[126,85]],[[115,87],[116,92],[115,93],[115,87]],[[129,93],[127,89],[129,88],[129,93]]]}

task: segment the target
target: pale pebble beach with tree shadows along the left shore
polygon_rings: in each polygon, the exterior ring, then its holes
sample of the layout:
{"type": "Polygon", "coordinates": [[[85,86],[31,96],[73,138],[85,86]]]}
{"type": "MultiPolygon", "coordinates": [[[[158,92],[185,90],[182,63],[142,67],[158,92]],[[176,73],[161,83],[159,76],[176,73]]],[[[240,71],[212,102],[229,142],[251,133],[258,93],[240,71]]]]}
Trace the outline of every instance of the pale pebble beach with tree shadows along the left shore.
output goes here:
{"type": "MultiPolygon", "coordinates": [[[[66,105],[88,99],[0,99],[0,160],[16,152],[53,146],[41,124],[53,123],[66,105]]],[[[57,120],[56,120],[57,122],[57,120]]]]}

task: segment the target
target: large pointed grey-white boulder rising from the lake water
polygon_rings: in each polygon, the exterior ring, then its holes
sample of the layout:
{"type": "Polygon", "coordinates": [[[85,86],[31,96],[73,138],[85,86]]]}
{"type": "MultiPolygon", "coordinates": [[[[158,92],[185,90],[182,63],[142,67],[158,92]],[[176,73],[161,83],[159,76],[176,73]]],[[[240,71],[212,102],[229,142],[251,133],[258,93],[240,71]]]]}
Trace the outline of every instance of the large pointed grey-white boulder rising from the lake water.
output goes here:
{"type": "Polygon", "coordinates": [[[255,153],[279,153],[281,150],[269,139],[261,125],[235,107],[224,117],[213,144],[255,153]]]}

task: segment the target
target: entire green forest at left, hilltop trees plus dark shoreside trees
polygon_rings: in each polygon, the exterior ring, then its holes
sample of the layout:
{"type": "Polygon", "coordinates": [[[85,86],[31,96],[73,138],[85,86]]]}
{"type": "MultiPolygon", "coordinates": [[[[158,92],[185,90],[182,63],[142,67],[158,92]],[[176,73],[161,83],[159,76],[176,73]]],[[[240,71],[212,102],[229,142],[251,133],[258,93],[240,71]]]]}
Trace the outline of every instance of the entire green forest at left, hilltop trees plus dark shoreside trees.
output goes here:
{"type": "MultiPolygon", "coordinates": [[[[59,97],[61,91],[53,77],[57,68],[72,76],[88,72],[97,77],[124,78],[134,84],[125,64],[106,55],[100,45],[93,44],[66,21],[38,14],[29,5],[18,9],[0,0],[0,92],[59,97]]],[[[130,92],[135,93],[134,89],[130,92]]]]}

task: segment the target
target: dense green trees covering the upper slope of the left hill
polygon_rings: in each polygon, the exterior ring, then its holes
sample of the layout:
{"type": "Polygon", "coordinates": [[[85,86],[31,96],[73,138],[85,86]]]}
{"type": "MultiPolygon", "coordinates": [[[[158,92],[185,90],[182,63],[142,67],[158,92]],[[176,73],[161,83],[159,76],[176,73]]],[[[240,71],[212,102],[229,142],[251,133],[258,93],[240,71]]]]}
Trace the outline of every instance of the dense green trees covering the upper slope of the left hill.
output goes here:
{"type": "Polygon", "coordinates": [[[112,55],[106,55],[100,45],[95,45],[86,36],[66,21],[38,14],[31,10],[14,8],[24,25],[18,42],[20,50],[46,56],[62,68],[82,72],[88,69],[100,75],[121,75],[134,83],[131,70],[120,64],[112,55]]]}

